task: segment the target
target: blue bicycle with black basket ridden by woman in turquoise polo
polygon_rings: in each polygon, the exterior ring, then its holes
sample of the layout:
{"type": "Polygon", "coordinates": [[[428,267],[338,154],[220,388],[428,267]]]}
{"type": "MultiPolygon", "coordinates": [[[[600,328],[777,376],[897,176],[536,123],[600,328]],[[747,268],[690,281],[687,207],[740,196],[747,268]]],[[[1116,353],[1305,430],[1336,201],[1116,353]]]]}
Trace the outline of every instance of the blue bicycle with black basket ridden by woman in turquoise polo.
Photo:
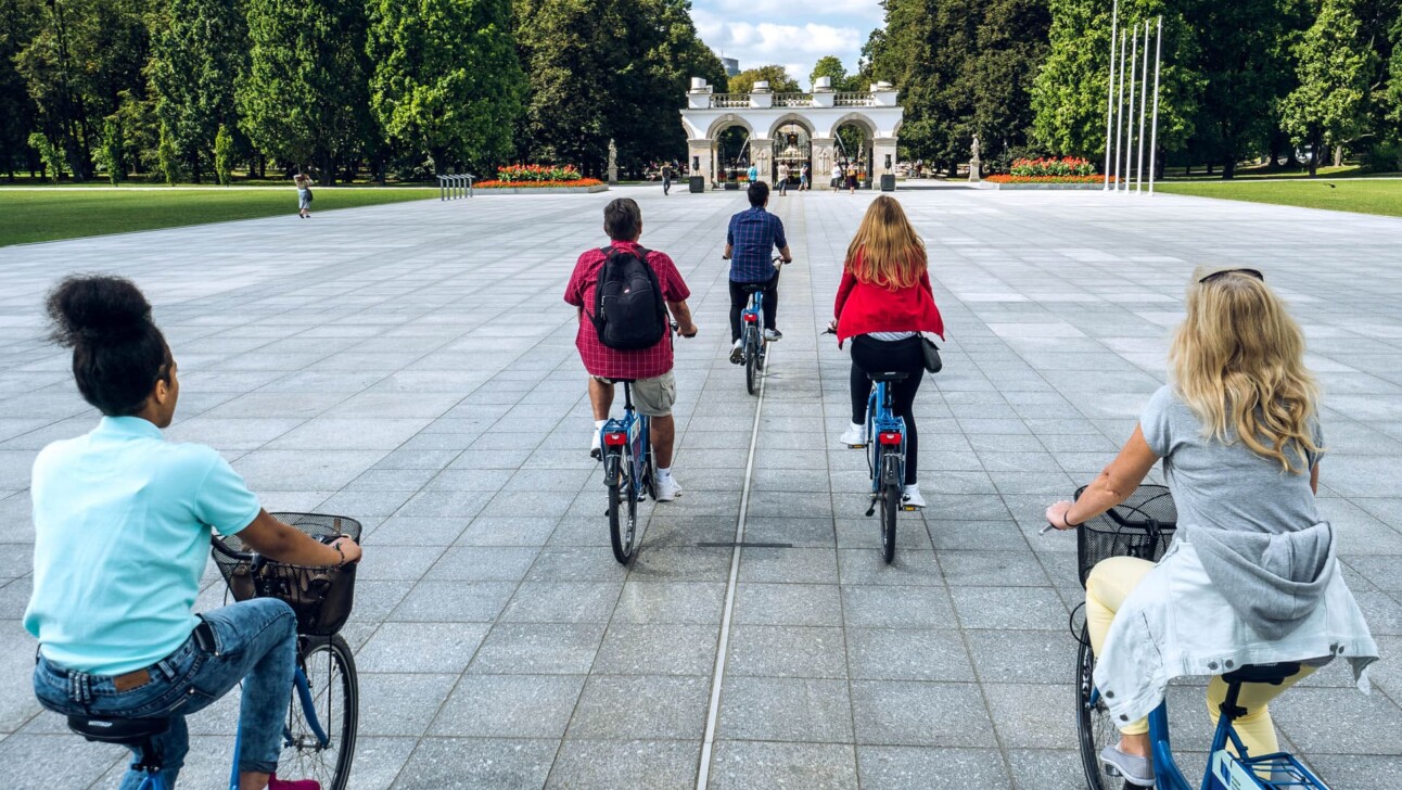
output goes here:
{"type": "MultiPolygon", "coordinates": [[[[355,519],[317,514],[273,515],[325,543],[343,535],[360,540],[360,522],[355,519]]],[[[355,565],[286,565],[243,549],[237,535],[213,539],[215,564],[234,599],[279,598],[297,615],[297,668],[287,721],[282,728],[278,776],[283,780],[315,780],[322,790],[345,790],[355,756],[360,686],[350,645],[336,631],[350,616],[355,565]]],[[[163,756],[154,745],[156,738],[170,731],[170,718],[69,717],[69,728],[88,741],[140,749],[132,769],[146,777],[137,790],[170,790],[163,773],[163,756]]],[[[240,747],[236,739],[229,790],[238,790],[240,747]]]]}

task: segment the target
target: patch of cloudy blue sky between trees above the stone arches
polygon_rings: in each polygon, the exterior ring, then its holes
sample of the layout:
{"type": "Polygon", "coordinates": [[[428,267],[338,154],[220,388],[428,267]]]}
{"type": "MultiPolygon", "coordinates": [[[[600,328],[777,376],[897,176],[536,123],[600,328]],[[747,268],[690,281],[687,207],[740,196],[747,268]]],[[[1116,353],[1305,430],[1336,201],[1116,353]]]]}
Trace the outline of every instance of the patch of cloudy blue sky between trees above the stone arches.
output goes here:
{"type": "Polygon", "coordinates": [[[808,90],[824,55],[857,70],[882,10],[880,0],[691,0],[691,18],[716,55],[737,58],[740,69],[780,63],[808,90]]]}

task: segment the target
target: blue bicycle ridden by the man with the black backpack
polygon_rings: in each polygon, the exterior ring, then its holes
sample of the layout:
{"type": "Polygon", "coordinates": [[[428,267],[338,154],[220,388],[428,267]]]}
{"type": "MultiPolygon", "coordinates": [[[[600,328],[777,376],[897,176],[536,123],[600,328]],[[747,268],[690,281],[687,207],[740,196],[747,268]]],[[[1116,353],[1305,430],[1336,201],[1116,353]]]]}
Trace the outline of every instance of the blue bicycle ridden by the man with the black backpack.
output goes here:
{"type": "Polygon", "coordinates": [[[600,460],[608,488],[608,536],[614,558],[627,565],[637,554],[638,502],[658,498],[652,476],[652,431],[646,414],[632,407],[631,380],[622,383],[622,418],[600,429],[600,460]]]}

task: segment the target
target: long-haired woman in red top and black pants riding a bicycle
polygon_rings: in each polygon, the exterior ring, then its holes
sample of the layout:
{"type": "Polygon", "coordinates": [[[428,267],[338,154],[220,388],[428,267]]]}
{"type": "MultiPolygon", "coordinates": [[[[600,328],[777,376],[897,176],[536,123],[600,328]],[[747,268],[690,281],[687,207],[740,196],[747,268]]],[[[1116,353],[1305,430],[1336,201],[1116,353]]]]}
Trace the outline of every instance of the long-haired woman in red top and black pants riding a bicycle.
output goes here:
{"type": "Polygon", "coordinates": [[[920,333],[945,337],[945,324],[930,288],[925,243],[894,198],[872,201],[847,247],[843,283],[833,307],[837,342],[852,338],[852,424],[843,434],[848,446],[862,445],[871,379],[866,373],[906,373],[894,384],[892,406],[906,420],[904,502],[925,507],[920,495],[920,438],[916,429],[916,391],[925,372],[920,333]]]}

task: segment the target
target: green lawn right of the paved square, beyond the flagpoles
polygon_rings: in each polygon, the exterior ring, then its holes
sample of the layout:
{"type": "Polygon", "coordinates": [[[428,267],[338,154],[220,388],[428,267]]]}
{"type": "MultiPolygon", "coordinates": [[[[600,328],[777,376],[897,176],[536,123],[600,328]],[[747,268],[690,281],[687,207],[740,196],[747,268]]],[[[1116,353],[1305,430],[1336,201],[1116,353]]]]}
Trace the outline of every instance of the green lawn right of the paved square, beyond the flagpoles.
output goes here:
{"type": "Polygon", "coordinates": [[[1402,216],[1402,180],[1159,182],[1154,189],[1173,195],[1402,216]]]}

